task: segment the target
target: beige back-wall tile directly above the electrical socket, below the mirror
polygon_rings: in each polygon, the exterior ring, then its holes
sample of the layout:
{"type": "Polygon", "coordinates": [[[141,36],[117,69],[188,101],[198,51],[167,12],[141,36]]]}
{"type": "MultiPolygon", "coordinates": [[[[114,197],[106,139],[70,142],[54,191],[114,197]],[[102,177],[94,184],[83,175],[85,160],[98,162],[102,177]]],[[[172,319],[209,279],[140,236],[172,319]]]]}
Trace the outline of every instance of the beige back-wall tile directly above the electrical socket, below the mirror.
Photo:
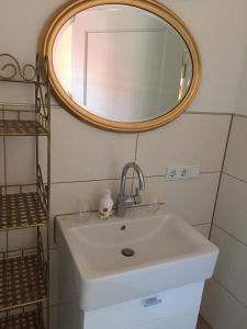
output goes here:
{"type": "Polygon", "coordinates": [[[137,163],[145,175],[164,175],[168,166],[199,164],[221,170],[228,115],[184,114],[159,129],[139,134],[137,163]]]}

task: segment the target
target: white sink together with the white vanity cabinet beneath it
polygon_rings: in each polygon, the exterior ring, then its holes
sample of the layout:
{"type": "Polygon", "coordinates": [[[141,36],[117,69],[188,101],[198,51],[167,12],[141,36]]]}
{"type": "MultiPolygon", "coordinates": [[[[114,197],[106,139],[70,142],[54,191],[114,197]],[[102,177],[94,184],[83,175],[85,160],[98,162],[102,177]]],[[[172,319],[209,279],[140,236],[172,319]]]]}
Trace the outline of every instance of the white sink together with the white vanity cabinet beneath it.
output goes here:
{"type": "Polygon", "coordinates": [[[166,205],[104,222],[96,212],[60,215],[55,224],[59,329],[197,328],[218,250],[166,205]]]}

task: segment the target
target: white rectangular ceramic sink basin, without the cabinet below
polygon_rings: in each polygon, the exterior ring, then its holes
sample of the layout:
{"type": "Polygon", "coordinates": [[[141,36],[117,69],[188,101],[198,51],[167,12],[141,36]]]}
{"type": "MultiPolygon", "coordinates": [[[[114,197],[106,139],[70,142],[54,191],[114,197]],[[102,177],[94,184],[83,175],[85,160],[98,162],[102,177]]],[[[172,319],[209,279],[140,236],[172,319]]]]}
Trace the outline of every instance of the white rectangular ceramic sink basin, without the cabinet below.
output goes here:
{"type": "Polygon", "coordinates": [[[57,219],[69,249],[80,308],[92,310],[211,277],[217,248],[160,206],[110,222],[90,213],[57,219]]]}

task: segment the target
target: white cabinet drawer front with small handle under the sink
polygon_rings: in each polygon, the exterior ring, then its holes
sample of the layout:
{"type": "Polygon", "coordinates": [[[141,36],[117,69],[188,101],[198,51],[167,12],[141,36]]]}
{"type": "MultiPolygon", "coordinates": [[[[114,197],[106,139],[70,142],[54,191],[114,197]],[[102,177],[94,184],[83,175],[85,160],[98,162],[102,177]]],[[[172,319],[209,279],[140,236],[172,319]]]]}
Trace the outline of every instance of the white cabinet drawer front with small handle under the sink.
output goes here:
{"type": "Polygon", "coordinates": [[[79,329],[195,329],[204,282],[80,313],[79,329]]]}

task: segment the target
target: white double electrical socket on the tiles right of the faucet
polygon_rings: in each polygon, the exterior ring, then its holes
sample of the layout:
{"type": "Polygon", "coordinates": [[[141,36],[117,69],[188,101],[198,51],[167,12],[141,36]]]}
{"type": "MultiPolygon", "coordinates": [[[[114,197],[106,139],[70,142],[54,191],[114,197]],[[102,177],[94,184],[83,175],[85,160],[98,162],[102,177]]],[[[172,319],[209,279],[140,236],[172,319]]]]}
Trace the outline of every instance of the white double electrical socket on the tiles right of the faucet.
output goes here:
{"type": "Polygon", "coordinates": [[[167,167],[168,180],[188,180],[200,175],[200,166],[167,167]]]}

